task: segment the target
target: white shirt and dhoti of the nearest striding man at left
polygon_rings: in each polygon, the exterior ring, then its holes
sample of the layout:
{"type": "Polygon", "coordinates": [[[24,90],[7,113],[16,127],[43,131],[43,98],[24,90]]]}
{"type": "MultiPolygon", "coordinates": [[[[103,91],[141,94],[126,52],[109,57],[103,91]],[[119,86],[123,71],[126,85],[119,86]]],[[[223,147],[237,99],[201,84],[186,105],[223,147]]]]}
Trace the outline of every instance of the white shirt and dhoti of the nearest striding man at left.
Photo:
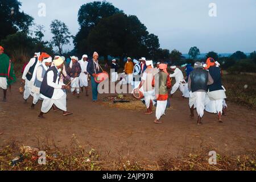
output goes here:
{"type": "Polygon", "coordinates": [[[59,75],[57,76],[56,82],[53,82],[53,76],[54,76],[53,71],[49,71],[47,73],[47,85],[54,88],[52,98],[48,98],[43,94],[40,94],[41,98],[43,98],[44,100],[41,108],[41,111],[43,113],[48,113],[48,111],[51,109],[53,104],[56,107],[58,107],[60,110],[67,111],[67,100],[66,100],[67,95],[61,89],[64,84],[62,82],[58,84],[59,75]]]}

